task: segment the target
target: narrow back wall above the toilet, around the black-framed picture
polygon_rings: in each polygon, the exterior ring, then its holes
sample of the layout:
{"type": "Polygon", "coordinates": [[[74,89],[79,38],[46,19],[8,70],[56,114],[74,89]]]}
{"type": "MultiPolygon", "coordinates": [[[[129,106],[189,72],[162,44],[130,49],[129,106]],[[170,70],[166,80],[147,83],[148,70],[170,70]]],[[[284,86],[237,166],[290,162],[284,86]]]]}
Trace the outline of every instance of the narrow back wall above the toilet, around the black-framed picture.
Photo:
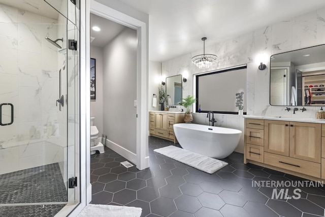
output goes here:
{"type": "Polygon", "coordinates": [[[95,117],[94,125],[103,134],[103,48],[90,46],[90,58],[96,59],[96,99],[90,100],[90,116],[95,117]]]}

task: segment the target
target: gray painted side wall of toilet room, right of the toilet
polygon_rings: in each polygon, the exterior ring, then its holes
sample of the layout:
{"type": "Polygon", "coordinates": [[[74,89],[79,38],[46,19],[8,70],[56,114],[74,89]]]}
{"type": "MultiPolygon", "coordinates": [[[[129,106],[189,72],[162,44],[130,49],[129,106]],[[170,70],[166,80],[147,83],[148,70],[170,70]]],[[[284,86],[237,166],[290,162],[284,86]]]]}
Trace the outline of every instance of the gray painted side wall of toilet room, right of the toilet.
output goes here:
{"type": "Polygon", "coordinates": [[[137,153],[136,30],[125,28],[103,52],[103,132],[110,141],[137,153]]]}

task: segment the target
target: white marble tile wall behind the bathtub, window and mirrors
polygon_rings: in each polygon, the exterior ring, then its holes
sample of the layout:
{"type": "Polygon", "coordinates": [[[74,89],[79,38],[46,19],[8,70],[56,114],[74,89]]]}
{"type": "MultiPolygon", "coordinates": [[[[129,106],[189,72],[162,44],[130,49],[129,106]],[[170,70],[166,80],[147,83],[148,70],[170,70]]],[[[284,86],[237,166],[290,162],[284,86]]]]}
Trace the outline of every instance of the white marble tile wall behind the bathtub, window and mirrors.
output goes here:
{"type": "MultiPolygon", "coordinates": [[[[256,29],[253,32],[206,47],[206,53],[218,56],[209,71],[239,65],[247,65],[246,102],[247,114],[259,116],[315,117],[320,107],[308,107],[307,111],[293,114],[285,111],[284,106],[270,106],[269,103],[269,61],[267,70],[260,71],[255,62],[260,53],[270,57],[276,53],[305,48],[325,43],[325,8],[291,19],[256,29]]],[[[205,72],[191,63],[191,57],[203,50],[179,56],[163,63],[163,75],[173,76],[188,73],[187,82],[183,83],[183,96],[193,94],[194,74],[205,72]]],[[[235,78],[234,78],[235,79],[235,78]]],[[[153,81],[152,81],[153,82],[153,81]]],[[[302,107],[297,106],[299,109],[302,107]]],[[[179,108],[177,108],[179,110],[179,108]]],[[[204,114],[194,114],[194,122],[207,124],[204,114]]],[[[216,115],[217,125],[239,130],[244,129],[244,121],[238,115],[216,115]]],[[[242,141],[243,144],[243,141],[242,141]]],[[[237,151],[242,152],[240,143],[237,151]]]]}

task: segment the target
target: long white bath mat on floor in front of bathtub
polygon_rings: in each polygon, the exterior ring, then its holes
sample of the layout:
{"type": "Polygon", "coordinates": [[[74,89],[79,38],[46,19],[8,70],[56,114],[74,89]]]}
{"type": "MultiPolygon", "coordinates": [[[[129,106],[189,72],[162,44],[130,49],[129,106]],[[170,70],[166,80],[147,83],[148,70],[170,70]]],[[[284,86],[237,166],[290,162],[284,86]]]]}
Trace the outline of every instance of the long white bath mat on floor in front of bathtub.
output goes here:
{"type": "Polygon", "coordinates": [[[226,162],[209,158],[202,154],[175,147],[173,145],[154,149],[153,151],[210,174],[221,169],[225,165],[228,165],[226,162]]]}

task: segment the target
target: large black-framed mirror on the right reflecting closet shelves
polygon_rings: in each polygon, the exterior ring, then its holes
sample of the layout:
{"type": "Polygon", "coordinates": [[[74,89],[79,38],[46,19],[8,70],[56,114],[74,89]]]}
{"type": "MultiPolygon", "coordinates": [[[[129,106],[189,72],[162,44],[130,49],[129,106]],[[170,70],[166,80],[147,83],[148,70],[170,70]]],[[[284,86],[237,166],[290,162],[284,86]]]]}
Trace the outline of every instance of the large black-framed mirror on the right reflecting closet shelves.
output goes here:
{"type": "Polygon", "coordinates": [[[325,106],[325,45],[271,56],[270,105],[325,106]]]}

